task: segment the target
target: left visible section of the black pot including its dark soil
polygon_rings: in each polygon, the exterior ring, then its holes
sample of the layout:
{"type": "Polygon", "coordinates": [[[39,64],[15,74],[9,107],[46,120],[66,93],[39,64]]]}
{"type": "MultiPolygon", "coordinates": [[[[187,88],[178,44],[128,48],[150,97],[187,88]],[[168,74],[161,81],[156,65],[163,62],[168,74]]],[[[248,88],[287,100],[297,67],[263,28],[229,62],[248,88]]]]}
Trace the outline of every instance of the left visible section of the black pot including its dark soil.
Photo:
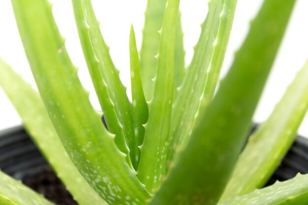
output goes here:
{"type": "Polygon", "coordinates": [[[58,205],[78,205],[22,126],[0,131],[0,169],[58,205]]]}

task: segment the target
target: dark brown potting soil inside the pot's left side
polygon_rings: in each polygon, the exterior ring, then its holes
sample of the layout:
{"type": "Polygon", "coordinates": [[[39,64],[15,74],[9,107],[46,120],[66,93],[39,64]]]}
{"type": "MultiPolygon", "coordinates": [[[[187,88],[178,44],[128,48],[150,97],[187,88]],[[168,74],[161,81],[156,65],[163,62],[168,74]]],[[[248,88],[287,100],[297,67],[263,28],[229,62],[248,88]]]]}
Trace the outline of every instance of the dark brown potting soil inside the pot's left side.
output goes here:
{"type": "Polygon", "coordinates": [[[50,167],[38,175],[25,177],[23,183],[57,205],[78,205],[50,167]]]}

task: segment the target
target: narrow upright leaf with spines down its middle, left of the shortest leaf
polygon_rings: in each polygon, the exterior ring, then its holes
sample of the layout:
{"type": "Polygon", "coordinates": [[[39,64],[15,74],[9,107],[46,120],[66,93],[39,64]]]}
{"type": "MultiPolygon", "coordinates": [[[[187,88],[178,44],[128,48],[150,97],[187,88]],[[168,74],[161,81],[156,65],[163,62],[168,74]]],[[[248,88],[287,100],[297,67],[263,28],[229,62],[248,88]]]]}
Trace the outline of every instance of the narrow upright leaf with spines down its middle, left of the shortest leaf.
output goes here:
{"type": "Polygon", "coordinates": [[[136,167],[139,148],[133,133],[131,103],[119,78],[119,71],[101,35],[91,0],[72,0],[72,4],[80,42],[107,127],[116,135],[117,146],[127,154],[128,164],[131,161],[136,167]]]}

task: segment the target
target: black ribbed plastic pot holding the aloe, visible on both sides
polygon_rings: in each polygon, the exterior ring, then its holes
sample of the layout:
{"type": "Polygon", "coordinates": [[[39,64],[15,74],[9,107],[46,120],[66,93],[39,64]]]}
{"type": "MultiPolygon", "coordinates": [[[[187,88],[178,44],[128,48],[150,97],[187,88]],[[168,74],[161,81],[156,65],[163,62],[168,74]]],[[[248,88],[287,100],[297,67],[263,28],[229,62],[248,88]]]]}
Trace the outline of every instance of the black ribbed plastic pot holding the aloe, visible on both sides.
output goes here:
{"type": "MultiPolygon", "coordinates": [[[[0,169],[16,179],[26,181],[27,178],[39,178],[37,176],[46,171],[52,172],[22,126],[0,131],[0,169]]],[[[290,179],[297,173],[308,174],[308,139],[300,136],[297,137],[267,185],[276,180],[290,179]]],[[[65,191],[64,188],[62,189],[65,191]]],[[[70,205],[71,203],[58,204],[70,205]]]]}

